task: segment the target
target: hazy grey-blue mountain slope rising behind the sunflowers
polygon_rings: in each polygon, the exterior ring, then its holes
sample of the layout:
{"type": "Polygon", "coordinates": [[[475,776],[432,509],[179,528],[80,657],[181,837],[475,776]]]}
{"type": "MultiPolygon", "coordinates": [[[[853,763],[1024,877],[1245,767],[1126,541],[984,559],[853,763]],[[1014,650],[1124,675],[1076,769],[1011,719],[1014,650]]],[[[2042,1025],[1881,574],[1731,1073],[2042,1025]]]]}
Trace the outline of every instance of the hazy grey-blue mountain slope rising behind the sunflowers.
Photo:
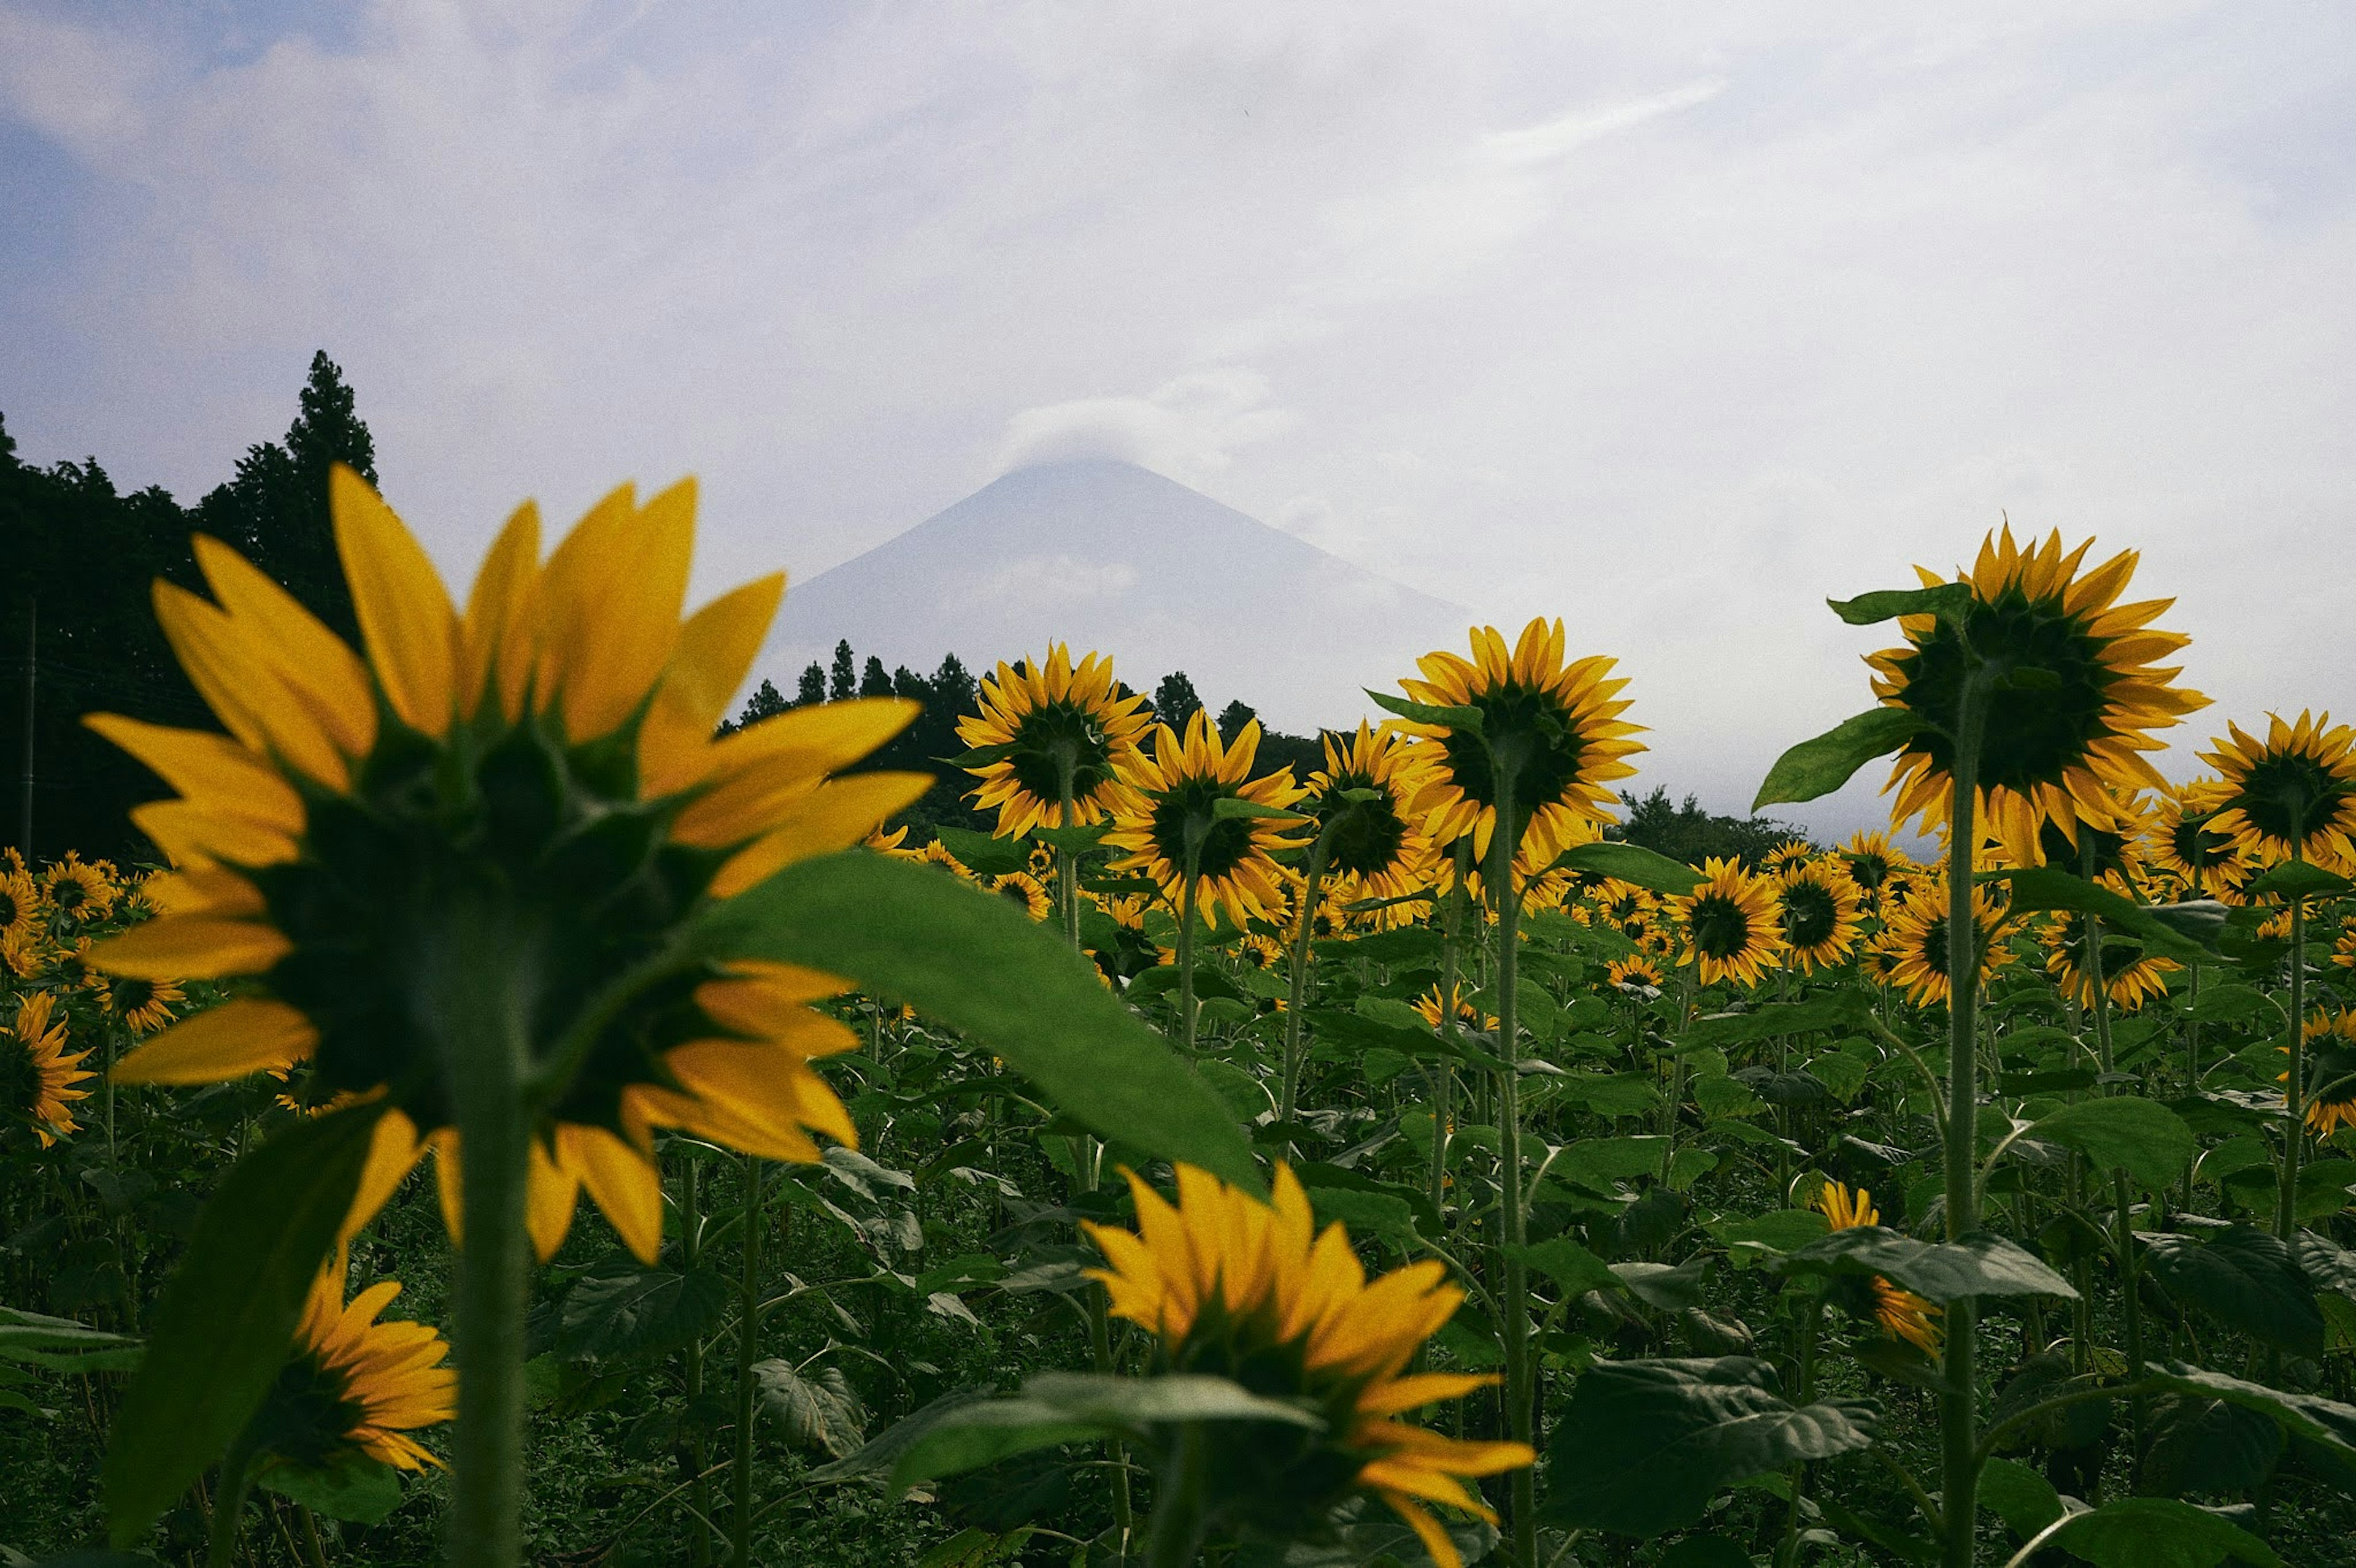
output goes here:
{"type": "Polygon", "coordinates": [[[1461,647],[1470,617],[1145,469],[1020,469],[905,534],[787,591],[759,673],[792,695],[848,638],[865,664],[931,671],[1110,652],[1131,685],[1173,669],[1284,730],[1350,723],[1362,687],[1461,647]]]}

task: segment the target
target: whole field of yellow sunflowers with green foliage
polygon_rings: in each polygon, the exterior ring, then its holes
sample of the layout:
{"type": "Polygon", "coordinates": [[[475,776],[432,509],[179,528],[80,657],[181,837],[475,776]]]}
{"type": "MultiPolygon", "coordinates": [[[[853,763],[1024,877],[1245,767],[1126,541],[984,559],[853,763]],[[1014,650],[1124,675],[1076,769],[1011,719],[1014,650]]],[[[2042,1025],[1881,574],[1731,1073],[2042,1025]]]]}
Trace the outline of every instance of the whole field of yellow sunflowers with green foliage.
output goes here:
{"type": "Polygon", "coordinates": [[[1890,831],[1689,866],[1562,622],[881,770],[693,485],[330,497],[358,647],[198,539],[155,864],[0,866],[7,1563],[2349,1561],[2356,732],[2163,777],[2132,553],[1835,600],[1758,808],[1890,831]]]}

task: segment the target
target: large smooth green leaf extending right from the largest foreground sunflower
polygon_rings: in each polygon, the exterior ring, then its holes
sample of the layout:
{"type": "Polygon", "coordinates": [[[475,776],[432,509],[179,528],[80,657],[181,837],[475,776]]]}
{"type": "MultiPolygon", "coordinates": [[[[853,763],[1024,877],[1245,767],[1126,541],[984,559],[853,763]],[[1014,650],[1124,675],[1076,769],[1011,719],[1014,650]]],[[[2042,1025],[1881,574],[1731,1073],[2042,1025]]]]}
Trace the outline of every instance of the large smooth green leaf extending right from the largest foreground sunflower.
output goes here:
{"type": "Polygon", "coordinates": [[[843,975],[1006,1057],[1098,1132],[1260,1191],[1251,1142],[1093,963],[1006,899],[926,866],[846,852],[806,859],[712,904],[709,958],[775,958],[843,975]]]}

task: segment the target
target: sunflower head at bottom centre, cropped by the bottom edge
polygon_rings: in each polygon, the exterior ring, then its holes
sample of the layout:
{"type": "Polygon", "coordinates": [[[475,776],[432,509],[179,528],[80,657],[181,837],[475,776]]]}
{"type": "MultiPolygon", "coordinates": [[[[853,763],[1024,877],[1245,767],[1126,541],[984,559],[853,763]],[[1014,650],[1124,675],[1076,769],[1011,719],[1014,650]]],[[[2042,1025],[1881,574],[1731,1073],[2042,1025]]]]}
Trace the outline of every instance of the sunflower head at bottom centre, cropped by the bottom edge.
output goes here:
{"type": "Polygon", "coordinates": [[[1496,1523],[1463,1486],[1534,1462],[1522,1443],[1470,1443],[1399,1415],[1496,1382],[1477,1373],[1409,1373],[1463,1293],[1437,1262],[1366,1281],[1341,1222],[1315,1229],[1308,1194],[1277,1165],[1275,1203],[1178,1165],[1171,1205],[1136,1175],[1138,1231],[1084,1229],[1105,1255],[1088,1269],[1112,1316],[1157,1335],[1171,1373],[1232,1377],[1268,1398],[1303,1401],[1324,1431],[1235,1424],[1213,1446],[1209,1497],[1227,1519],[1293,1535],[1322,1526],[1350,1495],[1390,1504],[1444,1568],[1461,1568],[1447,1530],[1423,1507],[1442,1502],[1496,1523]]]}

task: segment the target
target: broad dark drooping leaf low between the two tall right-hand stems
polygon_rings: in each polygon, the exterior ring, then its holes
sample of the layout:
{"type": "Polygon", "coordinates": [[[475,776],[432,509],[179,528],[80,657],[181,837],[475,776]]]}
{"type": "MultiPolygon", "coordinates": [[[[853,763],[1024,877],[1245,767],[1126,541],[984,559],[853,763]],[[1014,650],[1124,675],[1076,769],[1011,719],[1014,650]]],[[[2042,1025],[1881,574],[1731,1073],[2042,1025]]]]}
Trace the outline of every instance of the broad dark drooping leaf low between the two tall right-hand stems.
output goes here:
{"type": "Polygon", "coordinates": [[[1666,1535],[1729,1486],[1871,1443],[1871,1406],[1793,1406],[1751,1356],[1597,1361],[1555,1422],[1543,1511],[1586,1530],[1666,1535]]]}

